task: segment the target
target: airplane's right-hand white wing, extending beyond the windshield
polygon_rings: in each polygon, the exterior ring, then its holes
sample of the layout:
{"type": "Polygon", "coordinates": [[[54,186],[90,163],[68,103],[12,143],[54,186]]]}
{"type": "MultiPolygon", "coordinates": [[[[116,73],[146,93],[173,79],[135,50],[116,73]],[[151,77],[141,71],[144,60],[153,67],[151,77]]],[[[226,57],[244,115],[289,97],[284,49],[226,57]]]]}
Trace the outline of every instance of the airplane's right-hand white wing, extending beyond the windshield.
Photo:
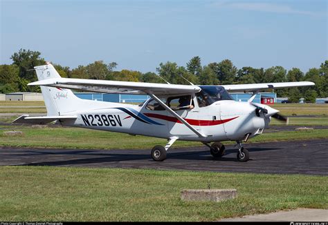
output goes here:
{"type": "Polygon", "coordinates": [[[314,83],[310,81],[300,82],[282,82],[282,83],[264,83],[264,84],[232,84],[232,85],[221,85],[228,92],[251,92],[268,89],[279,89],[279,88],[294,88],[302,86],[313,86],[314,83]]]}

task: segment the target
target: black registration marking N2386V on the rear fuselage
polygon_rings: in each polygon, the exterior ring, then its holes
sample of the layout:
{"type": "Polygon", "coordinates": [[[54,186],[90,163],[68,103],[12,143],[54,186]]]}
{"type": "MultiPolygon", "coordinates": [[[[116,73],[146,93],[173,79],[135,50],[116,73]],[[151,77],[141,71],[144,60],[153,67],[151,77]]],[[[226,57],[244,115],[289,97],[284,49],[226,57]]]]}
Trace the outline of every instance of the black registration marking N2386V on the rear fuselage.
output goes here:
{"type": "Polygon", "coordinates": [[[81,115],[85,126],[122,126],[120,115],[81,115]]]}

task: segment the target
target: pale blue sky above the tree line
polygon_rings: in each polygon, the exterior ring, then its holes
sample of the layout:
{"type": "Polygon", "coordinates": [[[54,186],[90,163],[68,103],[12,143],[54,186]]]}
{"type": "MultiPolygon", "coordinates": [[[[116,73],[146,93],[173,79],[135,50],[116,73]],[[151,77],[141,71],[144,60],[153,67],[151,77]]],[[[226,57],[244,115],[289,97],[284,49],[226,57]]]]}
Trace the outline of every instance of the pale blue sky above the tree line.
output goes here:
{"type": "Polygon", "coordinates": [[[115,61],[156,72],[224,59],[237,68],[318,68],[328,60],[327,0],[0,0],[0,64],[20,48],[76,68],[115,61]]]}

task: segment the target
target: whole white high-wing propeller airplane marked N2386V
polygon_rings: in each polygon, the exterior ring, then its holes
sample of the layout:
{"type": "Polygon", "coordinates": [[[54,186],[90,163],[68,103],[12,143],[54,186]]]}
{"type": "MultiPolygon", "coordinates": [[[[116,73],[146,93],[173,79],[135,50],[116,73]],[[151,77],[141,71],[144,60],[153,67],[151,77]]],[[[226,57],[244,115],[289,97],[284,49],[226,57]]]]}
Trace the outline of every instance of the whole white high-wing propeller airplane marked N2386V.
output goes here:
{"type": "MultiPolygon", "coordinates": [[[[166,159],[167,150],[176,140],[200,141],[210,148],[213,157],[224,155],[220,141],[237,141],[237,159],[246,162],[249,153],[242,143],[263,133],[271,117],[288,118],[264,104],[252,103],[260,90],[313,86],[314,83],[284,82],[270,84],[235,84],[195,86],[152,84],[127,81],[104,81],[62,78],[51,63],[35,66],[37,78],[28,85],[41,86],[47,115],[22,115],[15,123],[47,124],[107,130],[129,135],[160,137],[166,146],[154,146],[155,161],[166,159]],[[139,106],[76,97],[70,89],[91,92],[142,94],[150,99],[139,106]],[[229,92],[253,92],[248,102],[234,101],[229,92]],[[210,145],[210,143],[212,143],[210,145]]],[[[122,140],[123,141],[123,140],[122,140]]]]}

